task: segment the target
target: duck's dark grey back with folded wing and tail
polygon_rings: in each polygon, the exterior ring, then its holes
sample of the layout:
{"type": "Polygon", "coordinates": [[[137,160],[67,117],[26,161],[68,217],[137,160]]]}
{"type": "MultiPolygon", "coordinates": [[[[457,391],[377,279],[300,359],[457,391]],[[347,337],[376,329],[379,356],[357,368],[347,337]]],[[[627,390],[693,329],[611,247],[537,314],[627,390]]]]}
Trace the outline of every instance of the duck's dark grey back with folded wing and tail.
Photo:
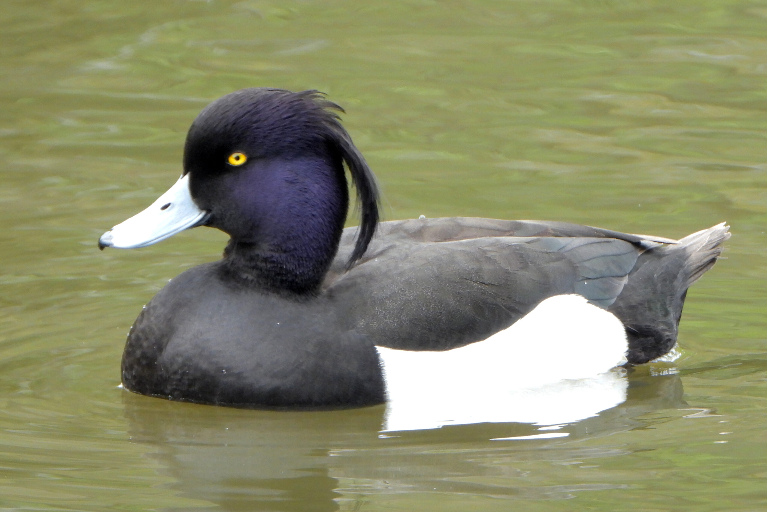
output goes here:
{"type": "Polygon", "coordinates": [[[673,347],[686,289],[729,233],[715,226],[680,243],[542,221],[392,221],[380,223],[347,272],[353,236],[345,230],[325,286],[377,345],[456,348],[509,327],[548,297],[576,293],[621,319],[629,360],[641,363],[673,347]]]}

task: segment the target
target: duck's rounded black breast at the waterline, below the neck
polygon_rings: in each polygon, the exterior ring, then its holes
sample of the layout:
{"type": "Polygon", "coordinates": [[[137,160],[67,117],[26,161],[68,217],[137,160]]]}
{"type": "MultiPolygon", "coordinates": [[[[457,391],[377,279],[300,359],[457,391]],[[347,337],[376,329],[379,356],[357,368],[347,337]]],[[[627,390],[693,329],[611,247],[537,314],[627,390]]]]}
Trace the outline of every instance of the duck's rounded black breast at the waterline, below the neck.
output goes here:
{"type": "Polygon", "coordinates": [[[324,297],[291,299],[187,270],[128,335],[123,385],[143,395],[241,407],[355,407],[384,401],[375,348],[342,329],[324,297]]]}

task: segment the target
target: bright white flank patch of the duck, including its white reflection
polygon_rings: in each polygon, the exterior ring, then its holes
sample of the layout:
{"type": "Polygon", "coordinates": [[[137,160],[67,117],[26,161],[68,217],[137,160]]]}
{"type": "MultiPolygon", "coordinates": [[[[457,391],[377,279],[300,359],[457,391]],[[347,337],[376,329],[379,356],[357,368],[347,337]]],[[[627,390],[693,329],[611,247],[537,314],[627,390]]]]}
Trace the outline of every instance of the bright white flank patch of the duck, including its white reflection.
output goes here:
{"type": "Polygon", "coordinates": [[[445,352],[377,347],[384,431],[518,421],[565,424],[626,399],[621,321],[578,295],[545,299],[482,342],[445,352]]]}

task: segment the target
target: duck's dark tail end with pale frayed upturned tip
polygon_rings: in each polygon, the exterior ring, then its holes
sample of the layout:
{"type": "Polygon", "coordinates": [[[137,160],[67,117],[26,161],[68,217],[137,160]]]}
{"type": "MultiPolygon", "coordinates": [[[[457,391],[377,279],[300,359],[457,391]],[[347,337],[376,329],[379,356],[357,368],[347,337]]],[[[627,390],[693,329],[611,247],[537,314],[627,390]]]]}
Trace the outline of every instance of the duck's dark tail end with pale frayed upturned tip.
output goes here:
{"type": "Polygon", "coordinates": [[[726,223],[643,253],[608,308],[626,327],[628,362],[639,365],[676,344],[687,289],[710,269],[730,236],[726,223]]]}

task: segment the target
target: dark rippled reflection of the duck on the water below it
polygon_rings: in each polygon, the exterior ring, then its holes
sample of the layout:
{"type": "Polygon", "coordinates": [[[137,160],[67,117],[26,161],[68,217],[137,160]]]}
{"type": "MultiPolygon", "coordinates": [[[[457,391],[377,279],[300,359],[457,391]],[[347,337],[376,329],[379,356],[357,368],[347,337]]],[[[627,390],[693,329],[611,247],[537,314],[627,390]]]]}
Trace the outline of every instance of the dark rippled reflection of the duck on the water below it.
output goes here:
{"type": "Polygon", "coordinates": [[[573,491],[624,487],[520,486],[515,462],[625,454],[623,449],[586,448],[574,441],[643,426],[646,420],[634,418],[684,408],[682,395],[678,375],[650,376],[640,370],[628,378],[626,401],[559,428],[480,423],[385,434],[380,433],[383,405],[347,411],[249,411],[128,392],[124,402],[131,439],[153,446],[150,457],[183,497],[219,510],[319,512],[353,509],[354,504],[344,501],[374,494],[429,491],[551,499],[573,491]],[[490,441],[545,433],[568,436],[490,441]]]}

